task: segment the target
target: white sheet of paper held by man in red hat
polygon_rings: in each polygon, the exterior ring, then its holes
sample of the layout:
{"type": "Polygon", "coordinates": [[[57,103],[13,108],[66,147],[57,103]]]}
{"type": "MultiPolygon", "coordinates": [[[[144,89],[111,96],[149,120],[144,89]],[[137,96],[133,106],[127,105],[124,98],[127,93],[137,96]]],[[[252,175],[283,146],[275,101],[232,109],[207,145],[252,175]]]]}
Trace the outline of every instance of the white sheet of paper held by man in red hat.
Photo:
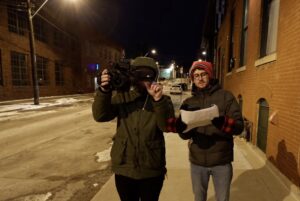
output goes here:
{"type": "Polygon", "coordinates": [[[180,110],[180,115],[182,121],[187,125],[187,128],[183,131],[183,133],[186,133],[193,128],[211,124],[211,120],[219,116],[219,109],[218,106],[213,105],[196,111],[180,110]]]}

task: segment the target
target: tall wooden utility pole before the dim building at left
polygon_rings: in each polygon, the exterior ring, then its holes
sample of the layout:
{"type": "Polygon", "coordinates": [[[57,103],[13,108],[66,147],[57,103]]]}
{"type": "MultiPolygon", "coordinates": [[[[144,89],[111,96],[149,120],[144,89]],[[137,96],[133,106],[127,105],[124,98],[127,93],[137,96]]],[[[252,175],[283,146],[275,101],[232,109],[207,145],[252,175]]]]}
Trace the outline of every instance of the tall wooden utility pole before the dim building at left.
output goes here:
{"type": "Polygon", "coordinates": [[[36,65],[36,52],[34,43],[34,30],[31,14],[31,2],[27,0],[27,14],[28,14],[28,24],[29,24],[29,42],[30,42],[30,59],[31,59],[31,76],[32,76],[32,86],[33,86],[33,102],[35,105],[39,105],[39,85],[37,81],[37,65],[36,65]]]}

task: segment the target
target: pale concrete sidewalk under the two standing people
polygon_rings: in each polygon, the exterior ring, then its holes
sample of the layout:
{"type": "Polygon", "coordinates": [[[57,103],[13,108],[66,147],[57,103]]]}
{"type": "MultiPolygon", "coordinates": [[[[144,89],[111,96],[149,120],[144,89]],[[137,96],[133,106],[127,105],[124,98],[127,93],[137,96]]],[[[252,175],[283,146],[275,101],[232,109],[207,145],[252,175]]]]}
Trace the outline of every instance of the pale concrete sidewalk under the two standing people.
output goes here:
{"type": "MultiPolygon", "coordinates": [[[[168,174],[160,201],[192,201],[187,141],[176,134],[165,134],[168,174]]],[[[292,185],[260,151],[243,139],[235,139],[234,177],[231,201],[300,201],[299,188],[292,185]]],[[[212,181],[208,201],[214,201],[212,181]]],[[[114,176],[92,201],[119,201],[114,176]]]]}

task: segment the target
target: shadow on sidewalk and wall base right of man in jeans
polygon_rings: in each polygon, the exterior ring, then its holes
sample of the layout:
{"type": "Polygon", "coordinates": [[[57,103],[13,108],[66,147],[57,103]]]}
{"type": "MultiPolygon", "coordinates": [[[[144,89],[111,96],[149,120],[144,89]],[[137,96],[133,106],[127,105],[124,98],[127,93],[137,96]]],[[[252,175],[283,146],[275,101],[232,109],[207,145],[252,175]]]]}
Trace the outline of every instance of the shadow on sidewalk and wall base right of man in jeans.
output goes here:
{"type": "MultiPolygon", "coordinates": [[[[283,201],[289,195],[291,186],[284,186],[283,182],[274,176],[271,168],[274,165],[271,163],[277,165],[285,175],[290,175],[288,178],[299,186],[300,176],[296,159],[291,152],[287,151],[285,141],[282,140],[278,143],[276,158],[270,157],[260,168],[246,171],[233,170],[236,179],[231,185],[230,201],[283,201]]],[[[208,201],[214,200],[214,197],[208,199],[208,201]]]]}

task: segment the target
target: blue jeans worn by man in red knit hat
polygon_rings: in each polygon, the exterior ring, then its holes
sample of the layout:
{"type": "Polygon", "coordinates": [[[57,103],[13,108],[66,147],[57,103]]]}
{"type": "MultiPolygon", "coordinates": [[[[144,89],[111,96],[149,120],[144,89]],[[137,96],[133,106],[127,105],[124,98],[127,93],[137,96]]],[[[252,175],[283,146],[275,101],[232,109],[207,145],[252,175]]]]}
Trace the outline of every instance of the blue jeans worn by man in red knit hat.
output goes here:
{"type": "Polygon", "coordinates": [[[191,177],[195,201],[207,200],[209,178],[212,176],[216,201],[229,201],[232,164],[203,167],[191,163],[191,177]]]}

